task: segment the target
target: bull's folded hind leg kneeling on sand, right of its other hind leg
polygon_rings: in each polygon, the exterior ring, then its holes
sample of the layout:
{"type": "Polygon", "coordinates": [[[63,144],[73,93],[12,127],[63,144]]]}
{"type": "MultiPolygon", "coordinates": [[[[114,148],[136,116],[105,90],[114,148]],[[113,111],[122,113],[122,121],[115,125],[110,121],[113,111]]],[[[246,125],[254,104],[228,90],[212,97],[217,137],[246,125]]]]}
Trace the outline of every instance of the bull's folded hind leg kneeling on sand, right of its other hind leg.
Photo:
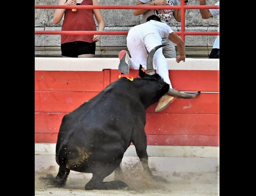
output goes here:
{"type": "MultiPolygon", "coordinates": [[[[113,170],[114,171],[114,170],[113,170]]],[[[128,184],[121,180],[114,180],[110,182],[103,182],[104,178],[110,175],[111,172],[97,171],[92,174],[92,179],[85,185],[85,190],[109,190],[109,189],[126,189],[129,190],[128,184]]]]}

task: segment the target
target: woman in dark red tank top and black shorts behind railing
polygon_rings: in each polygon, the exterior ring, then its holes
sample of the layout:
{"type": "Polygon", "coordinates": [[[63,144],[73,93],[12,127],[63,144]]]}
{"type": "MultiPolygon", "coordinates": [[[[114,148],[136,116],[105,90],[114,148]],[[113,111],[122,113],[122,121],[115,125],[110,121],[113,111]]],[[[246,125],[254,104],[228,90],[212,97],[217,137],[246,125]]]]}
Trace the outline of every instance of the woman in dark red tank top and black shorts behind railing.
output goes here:
{"type": "MultiPolygon", "coordinates": [[[[59,0],[59,5],[99,5],[98,0],[59,0]]],[[[105,21],[100,9],[56,9],[53,23],[58,24],[64,15],[62,31],[104,31],[105,21]],[[65,13],[65,15],[64,15],[65,13]]],[[[94,57],[96,42],[101,35],[61,35],[61,55],[63,57],[94,57]]]]}

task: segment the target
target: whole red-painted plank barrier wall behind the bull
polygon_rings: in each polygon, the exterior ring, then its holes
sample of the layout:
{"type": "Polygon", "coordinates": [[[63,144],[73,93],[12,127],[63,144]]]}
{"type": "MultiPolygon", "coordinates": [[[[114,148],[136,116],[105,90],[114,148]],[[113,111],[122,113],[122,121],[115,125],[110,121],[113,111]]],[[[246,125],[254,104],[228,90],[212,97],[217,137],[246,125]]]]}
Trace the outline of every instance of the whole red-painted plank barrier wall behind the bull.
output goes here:
{"type": "MultiPolygon", "coordinates": [[[[138,70],[130,70],[133,77],[138,70]]],[[[219,71],[169,70],[179,91],[219,91],[219,71]]],[[[118,70],[35,71],[35,142],[56,143],[62,117],[118,79],[118,70]]],[[[148,145],[219,146],[219,93],[147,108],[148,145]]]]}

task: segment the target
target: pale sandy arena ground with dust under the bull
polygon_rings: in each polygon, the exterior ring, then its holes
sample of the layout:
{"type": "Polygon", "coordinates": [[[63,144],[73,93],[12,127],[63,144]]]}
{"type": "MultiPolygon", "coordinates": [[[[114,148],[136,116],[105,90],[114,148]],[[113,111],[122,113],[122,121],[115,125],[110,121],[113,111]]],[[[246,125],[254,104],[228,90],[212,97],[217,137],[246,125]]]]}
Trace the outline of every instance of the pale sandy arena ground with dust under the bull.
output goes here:
{"type": "MultiPolygon", "coordinates": [[[[57,168],[58,169],[58,168],[57,168]]],[[[171,172],[159,173],[151,168],[154,175],[161,176],[167,182],[153,181],[141,168],[141,165],[135,164],[123,168],[123,175],[120,180],[130,186],[127,190],[84,190],[85,184],[91,179],[92,174],[85,174],[71,171],[66,185],[62,188],[53,188],[46,185],[47,182],[42,179],[46,174],[57,174],[56,168],[48,168],[35,173],[35,195],[36,196],[208,196],[219,195],[219,169],[216,172],[193,173],[193,172],[171,172]]],[[[106,177],[104,181],[114,180],[114,174],[106,177]]]]}

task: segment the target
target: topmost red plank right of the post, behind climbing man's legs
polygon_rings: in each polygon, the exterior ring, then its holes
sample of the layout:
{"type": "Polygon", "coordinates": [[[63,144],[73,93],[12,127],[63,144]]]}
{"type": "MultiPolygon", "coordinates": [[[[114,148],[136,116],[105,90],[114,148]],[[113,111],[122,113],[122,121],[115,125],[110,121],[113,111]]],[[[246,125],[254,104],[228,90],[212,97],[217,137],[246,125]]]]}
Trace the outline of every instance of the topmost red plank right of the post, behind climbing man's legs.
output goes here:
{"type": "MultiPolygon", "coordinates": [[[[113,82],[118,79],[118,70],[111,70],[113,82]]],[[[139,77],[138,70],[131,69],[132,77],[139,77]]],[[[169,70],[172,87],[179,91],[219,92],[219,71],[217,70],[169,70]]]]}

